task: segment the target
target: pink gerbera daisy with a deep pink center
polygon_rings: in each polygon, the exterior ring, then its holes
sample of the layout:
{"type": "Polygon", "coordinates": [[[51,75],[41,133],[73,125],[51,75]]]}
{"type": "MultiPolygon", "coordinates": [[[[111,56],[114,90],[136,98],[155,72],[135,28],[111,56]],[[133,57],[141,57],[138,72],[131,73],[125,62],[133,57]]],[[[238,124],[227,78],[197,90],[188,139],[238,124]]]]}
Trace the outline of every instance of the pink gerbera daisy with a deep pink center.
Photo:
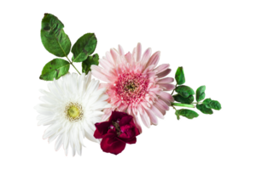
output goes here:
{"type": "Polygon", "coordinates": [[[158,50],[153,54],[153,48],[143,51],[143,42],[137,42],[125,53],[124,46],[118,43],[103,53],[100,65],[91,65],[92,76],[102,81],[99,88],[107,88],[107,101],[112,105],[104,109],[102,122],[108,120],[112,111],[126,112],[134,117],[143,133],[143,125],[152,128],[151,125],[160,126],[159,119],[166,120],[174,102],[170,92],[175,85],[174,78],[168,77],[171,63],[160,63],[161,54],[158,50]]]}

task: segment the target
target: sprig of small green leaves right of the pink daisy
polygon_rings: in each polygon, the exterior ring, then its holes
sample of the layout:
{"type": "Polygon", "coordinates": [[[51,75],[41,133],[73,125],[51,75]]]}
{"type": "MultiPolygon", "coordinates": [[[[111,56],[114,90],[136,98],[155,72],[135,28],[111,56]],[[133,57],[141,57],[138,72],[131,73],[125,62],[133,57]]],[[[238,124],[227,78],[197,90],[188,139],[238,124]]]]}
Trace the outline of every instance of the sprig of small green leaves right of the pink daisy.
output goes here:
{"type": "Polygon", "coordinates": [[[207,85],[201,85],[194,89],[186,84],[187,77],[183,66],[177,66],[173,74],[176,88],[171,94],[175,103],[191,105],[192,108],[175,108],[173,115],[177,120],[181,120],[182,117],[192,120],[198,118],[200,113],[212,115],[214,111],[222,110],[222,104],[218,100],[207,98],[207,85]]]}

